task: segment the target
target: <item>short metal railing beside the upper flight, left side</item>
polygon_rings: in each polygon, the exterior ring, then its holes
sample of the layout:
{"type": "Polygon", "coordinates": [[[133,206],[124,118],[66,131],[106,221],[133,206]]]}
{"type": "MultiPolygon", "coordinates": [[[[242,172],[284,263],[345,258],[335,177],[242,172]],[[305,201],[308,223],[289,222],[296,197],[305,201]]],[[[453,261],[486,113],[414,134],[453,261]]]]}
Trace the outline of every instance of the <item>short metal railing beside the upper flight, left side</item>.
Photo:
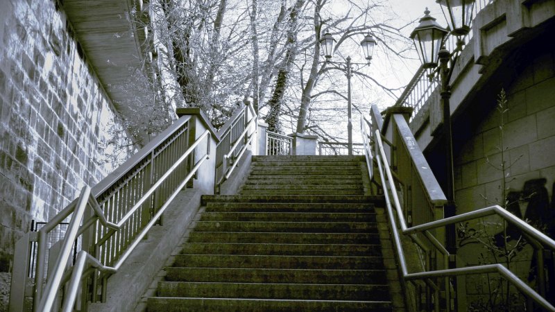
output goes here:
{"type": "Polygon", "coordinates": [[[256,137],[258,116],[253,105],[244,105],[235,112],[218,132],[221,141],[216,146],[216,178],[214,193],[227,180],[247,147],[256,137]]]}

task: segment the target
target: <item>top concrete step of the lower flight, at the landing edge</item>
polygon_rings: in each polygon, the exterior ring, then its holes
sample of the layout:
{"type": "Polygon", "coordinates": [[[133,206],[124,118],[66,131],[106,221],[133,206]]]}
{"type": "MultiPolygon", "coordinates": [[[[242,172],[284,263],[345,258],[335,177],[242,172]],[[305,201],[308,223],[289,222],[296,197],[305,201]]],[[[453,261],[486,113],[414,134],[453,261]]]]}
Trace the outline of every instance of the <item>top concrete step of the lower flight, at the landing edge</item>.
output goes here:
{"type": "Polygon", "coordinates": [[[203,205],[207,202],[280,202],[280,203],[296,203],[296,202],[314,202],[314,203],[332,203],[332,202],[357,202],[381,204],[384,202],[382,196],[361,196],[361,195],[203,195],[201,197],[203,205]]]}

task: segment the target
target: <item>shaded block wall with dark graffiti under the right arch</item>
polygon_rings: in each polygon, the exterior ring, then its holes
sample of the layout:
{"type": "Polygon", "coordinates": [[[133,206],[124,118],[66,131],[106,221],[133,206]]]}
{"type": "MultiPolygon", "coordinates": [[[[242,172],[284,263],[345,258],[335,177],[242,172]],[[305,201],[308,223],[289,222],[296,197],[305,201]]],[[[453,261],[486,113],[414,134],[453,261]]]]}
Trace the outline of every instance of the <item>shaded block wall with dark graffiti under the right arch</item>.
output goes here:
{"type": "MultiPolygon", "coordinates": [[[[512,82],[504,87],[509,110],[504,114],[503,132],[499,129],[500,114],[495,107],[486,116],[476,116],[481,122],[455,159],[457,212],[462,214],[491,205],[503,205],[500,164],[504,159],[507,167],[506,195],[511,202],[507,209],[553,234],[555,51],[545,49],[530,62],[518,66],[520,69],[516,70],[512,82]],[[500,148],[504,150],[503,155],[500,148]]],[[[483,241],[487,241],[486,237],[492,237],[493,245],[504,245],[500,218],[483,218],[481,221],[464,225],[466,234],[478,233],[482,235],[483,241]]],[[[510,228],[508,232],[513,236],[508,245],[514,246],[519,234],[510,228]]],[[[459,232],[458,247],[458,266],[505,261],[499,255],[494,257],[484,243],[479,243],[463,232],[459,232]]],[[[533,283],[535,277],[529,275],[533,268],[531,259],[530,245],[515,249],[511,270],[524,281],[533,283]]],[[[491,291],[495,288],[491,283],[497,283],[497,278],[490,275],[487,279],[483,276],[466,277],[466,283],[462,283],[463,280],[459,279],[459,284],[466,285],[463,287],[466,287],[467,297],[461,297],[461,301],[464,300],[468,305],[474,304],[475,307],[481,302],[487,302],[484,294],[488,293],[488,289],[491,291]]]]}

